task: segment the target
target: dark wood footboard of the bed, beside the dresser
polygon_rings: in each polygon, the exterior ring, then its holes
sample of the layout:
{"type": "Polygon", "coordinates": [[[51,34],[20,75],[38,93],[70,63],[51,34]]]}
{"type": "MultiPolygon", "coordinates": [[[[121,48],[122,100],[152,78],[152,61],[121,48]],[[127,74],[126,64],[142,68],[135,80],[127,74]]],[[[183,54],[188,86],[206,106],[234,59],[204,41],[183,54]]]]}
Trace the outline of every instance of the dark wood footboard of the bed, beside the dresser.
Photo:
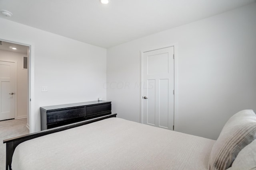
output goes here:
{"type": "Polygon", "coordinates": [[[8,169],[11,170],[12,169],[12,166],[11,166],[12,165],[12,155],[14,153],[15,148],[20,143],[22,143],[24,141],[28,141],[30,139],[37,138],[37,137],[48,135],[48,134],[51,134],[51,133],[56,133],[56,132],[59,132],[59,131],[64,131],[64,130],[71,129],[71,128],[74,128],[74,127],[78,127],[78,126],[86,125],[86,124],[93,123],[93,122],[96,122],[96,121],[100,121],[100,120],[103,120],[103,119],[107,119],[107,118],[110,118],[110,117],[116,117],[116,113],[111,114],[111,115],[105,115],[105,116],[102,116],[102,117],[97,117],[97,118],[94,118],[94,119],[80,121],[78,123],[72,123],[72,124],[69,124],[69,125],[64,125],[64,126],[60,126],[60,127],[56,127],[56,128],[52,128],[52,129],[48,129],[48,130],[44,130],[44,131],[31,133],[31,134],[28,134],[28,135],[22,135],[22,136],[19,136],[19,137],[14,137],[14,138],[4,140],[4,143],[6,143],[6,170],[8,170],[8,169]]]}

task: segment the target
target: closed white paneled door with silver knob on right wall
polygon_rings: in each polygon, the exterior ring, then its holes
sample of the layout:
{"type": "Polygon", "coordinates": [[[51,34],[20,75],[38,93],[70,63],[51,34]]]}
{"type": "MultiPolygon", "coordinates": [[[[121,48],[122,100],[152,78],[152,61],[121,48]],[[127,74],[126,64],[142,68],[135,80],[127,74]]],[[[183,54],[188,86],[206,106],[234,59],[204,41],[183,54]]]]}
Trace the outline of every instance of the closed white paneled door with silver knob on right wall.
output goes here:
{"type": "Polygon", "coordinates": [[[173,130],[174,47],[142,54],[142,123],[173,130]]]}

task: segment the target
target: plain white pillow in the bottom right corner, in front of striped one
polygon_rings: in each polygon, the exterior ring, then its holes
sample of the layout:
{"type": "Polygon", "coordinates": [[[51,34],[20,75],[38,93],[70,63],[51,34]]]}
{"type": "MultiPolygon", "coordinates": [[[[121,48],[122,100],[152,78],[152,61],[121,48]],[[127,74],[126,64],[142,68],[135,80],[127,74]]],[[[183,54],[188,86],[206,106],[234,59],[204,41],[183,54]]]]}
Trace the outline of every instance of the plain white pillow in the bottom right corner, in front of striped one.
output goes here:
{"type": "Polygon", "coordinates": [[[256,169],[256,140],[244,147],[228,170],[253,170],[256,169]]]}

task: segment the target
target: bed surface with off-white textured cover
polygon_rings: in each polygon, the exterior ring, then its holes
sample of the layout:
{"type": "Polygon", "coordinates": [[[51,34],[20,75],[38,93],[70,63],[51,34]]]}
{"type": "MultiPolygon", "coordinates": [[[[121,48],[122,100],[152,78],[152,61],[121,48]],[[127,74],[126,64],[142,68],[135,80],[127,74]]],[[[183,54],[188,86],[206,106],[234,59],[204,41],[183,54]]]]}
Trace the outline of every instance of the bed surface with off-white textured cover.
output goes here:
{"type": "Polygon", "coordinates": [[[214,143],[113,117],[21,143],[12,169],[204,170],[214,143]]]}

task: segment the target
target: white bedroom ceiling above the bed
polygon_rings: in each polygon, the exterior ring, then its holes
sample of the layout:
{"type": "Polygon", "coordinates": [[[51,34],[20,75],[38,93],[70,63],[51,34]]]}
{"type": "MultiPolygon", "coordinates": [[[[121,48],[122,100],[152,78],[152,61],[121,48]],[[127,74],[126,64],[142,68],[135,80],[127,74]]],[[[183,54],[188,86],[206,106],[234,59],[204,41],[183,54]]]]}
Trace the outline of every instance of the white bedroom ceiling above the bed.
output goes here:
{"type": "Polygon", "coordinates": [[[256,0],[0,0],[15,21],[109,48],[256,0]]]}

